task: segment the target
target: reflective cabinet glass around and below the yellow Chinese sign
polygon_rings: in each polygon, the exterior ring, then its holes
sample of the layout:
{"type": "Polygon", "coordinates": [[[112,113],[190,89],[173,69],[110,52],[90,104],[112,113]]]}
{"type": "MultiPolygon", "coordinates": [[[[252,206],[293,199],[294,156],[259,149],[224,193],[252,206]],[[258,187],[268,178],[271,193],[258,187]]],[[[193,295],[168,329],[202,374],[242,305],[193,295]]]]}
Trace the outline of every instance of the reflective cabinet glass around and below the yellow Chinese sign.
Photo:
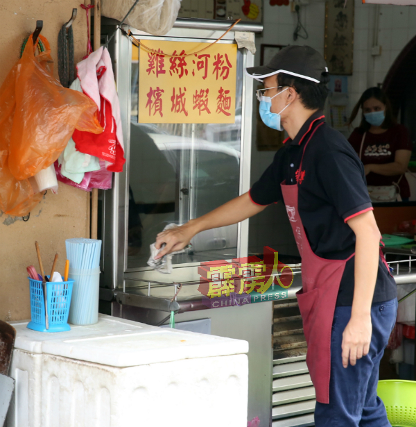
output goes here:
{"type": "MultiPolygon", "coordinates": [[[[136,48],[137,49],[137,48],[136,48]]],[[[128,268],[146,267],[149,245],[174,222],[184,224],[239,195],[243,54],[237,53],[234,124],[139,124],[137,53],[132,56],[128,268]]],[[[193,238],[174,264],[236,258],[237,226],[193,238]]]]}

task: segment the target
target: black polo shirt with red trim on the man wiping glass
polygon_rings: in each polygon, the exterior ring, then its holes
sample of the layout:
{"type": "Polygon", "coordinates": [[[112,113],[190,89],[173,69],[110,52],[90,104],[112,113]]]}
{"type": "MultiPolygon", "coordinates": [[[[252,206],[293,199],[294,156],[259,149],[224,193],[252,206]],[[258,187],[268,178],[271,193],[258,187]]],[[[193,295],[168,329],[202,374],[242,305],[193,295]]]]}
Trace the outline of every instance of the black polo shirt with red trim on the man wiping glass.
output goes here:
{"type": "MultiPolygon", "coordinates": [[[[363,163],[345,137],[324,123],[315,112],[294,140],[288,138],[272,164],[252,185],[254,203],[269,205],[283,200],[280,184],[295,185],[299,179],[298,209],[315,255],[344,260],[355,251],[355,234],[347,220],[367,210],[372,203],[367,191],[363,163]],[[302,171],[298,171],[306,142],[302,171]]],[[[354,259],[347,261],[340,283],[337,305],[352,305],[354,259]]],[[[373,303],[397,296],[395,280],[379,258],[373,303]]]]}

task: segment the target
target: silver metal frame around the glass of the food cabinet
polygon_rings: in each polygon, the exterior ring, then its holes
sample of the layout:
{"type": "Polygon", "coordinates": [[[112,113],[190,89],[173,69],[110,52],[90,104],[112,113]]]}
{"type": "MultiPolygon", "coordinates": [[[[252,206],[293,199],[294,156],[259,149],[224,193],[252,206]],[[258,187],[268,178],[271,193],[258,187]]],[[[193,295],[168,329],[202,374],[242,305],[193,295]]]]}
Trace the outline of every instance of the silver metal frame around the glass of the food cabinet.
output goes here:
{"type": "MultiPolygon", "coordinates": [[[[132,33],[139,35],[141,40],[180,40],[184,42],[212,42],[229,28],[228,22],[218,22],[209,19],[177,19],[174,28],[164,36],[154,36],[130,28],[132,33]]],[[[236,31],[262,31],[259,24],[237,24],[236,31]]],[[[123,123],[123,137],[125,141],[125,167],[123,172],[114,174],[112,190],[103,194],[103,260],[102,269],[103,287],[119,289],[125,292],[125,274],[134,278],[151,278],[153,270],[150,267],[128,269],[128,170],[130,160],[130,81],[131,67],[125,66],[125,61],[132,55],[132,44],[128,37],[118,31],[114,41],[110,44],[113,53],[114,74],[116,87],[119,92],[121,120],[123,123]]],[[[234,43],[234,31],[225,35],[220,43],[234,43]]],[[[254,65],[254,56],[247,49],[242,50],[243,67],[254,65]]],[[[241,117],[241,161],[239,194],[247,192],[250,188],[250,154],[252,140],[252,101],[253,80],[243,74],[243,94],[241,117]]],[[[237,258],[248,255],[248,219],[238,224],[237,231],[237,258]]],[[[169,278],[180,276],[182,281],[198,278],[196,269],[199,263],[181,264],[174,266],[173,275],[169,278]]],[[[134,285],[134,284],[133,284],[134,285]]]]}

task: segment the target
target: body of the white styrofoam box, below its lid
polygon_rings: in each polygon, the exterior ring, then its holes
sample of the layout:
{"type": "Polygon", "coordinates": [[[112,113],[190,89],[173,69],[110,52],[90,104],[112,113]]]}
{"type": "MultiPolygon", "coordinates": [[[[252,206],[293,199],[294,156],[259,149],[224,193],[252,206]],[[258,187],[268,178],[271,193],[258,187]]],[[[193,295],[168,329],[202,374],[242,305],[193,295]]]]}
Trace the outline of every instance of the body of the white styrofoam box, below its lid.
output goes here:
{"type": "Polygon", "coordinates": [[[15,372],[7,427],[247,425],[243,354],[119,368],[15,350],[15,372]]]}

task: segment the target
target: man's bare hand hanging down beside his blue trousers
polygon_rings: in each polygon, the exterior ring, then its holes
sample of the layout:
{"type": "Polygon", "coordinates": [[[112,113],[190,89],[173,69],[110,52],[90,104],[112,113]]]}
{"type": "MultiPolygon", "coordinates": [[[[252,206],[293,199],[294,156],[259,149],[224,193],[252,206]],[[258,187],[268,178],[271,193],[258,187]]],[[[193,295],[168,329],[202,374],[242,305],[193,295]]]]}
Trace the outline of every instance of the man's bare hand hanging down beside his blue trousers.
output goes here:
{"type": "Polygon", "coordinates": [[[367,355],[370,351],[372,335],[371,316],[352,316],[343,332],[343,367],[348,367],[348,360],[352,366],[357,359],[367,355]]]}

